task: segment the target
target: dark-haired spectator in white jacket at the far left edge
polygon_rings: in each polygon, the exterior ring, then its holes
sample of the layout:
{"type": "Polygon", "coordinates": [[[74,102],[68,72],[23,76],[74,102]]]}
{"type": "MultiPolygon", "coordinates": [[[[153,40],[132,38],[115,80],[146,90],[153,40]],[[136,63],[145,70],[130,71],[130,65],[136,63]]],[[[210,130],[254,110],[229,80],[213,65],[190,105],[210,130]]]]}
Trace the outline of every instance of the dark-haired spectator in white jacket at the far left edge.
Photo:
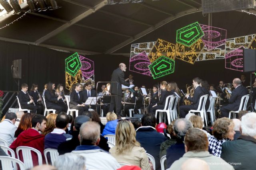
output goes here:
{"type": "MultiPolygon", "coordinates": [[[[14,133],[17,129],[15,125],[16,119],[17,115],[10,112],[6,113],[4,121],[0,123],[0,138],[6,140],[9,144],[14,140],[14,133]]],[[[0,144],[3,145],[2,142],[0,144]]]]}

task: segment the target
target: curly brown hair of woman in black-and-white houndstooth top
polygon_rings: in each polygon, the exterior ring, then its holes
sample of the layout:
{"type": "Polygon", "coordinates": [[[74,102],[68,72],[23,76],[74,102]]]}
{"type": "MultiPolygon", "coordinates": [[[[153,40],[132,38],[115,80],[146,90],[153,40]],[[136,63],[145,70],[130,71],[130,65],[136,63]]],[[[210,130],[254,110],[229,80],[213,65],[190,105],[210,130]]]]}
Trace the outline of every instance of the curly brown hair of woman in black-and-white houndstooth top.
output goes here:
{"type": "Polygon", "coordinates": [[[233,123],[232,119],[228,119],[227,117],[222,117],[220,119],[217,119],[213,123],[212,134],[218,140],[227,138],[227,134],[230,131],[230,128],[229,128],[230,126],[234,127],[234,123],[233,123]]]}

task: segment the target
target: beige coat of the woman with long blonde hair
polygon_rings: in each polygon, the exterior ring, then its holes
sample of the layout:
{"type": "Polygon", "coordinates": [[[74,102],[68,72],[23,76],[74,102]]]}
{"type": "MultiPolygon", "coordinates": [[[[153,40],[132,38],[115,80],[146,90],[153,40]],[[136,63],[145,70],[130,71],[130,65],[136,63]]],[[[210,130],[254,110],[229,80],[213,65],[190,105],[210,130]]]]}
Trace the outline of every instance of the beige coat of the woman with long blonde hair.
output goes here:
{"type": "Polygon", "coordinates": [[[148,156],[142,147],[133,147],[132,150],[125,151],[122,154],[116,154],[116,147],[113,147],[109,152],[119,163],[140,166],[143,170],[151,170],[148,156]]]}

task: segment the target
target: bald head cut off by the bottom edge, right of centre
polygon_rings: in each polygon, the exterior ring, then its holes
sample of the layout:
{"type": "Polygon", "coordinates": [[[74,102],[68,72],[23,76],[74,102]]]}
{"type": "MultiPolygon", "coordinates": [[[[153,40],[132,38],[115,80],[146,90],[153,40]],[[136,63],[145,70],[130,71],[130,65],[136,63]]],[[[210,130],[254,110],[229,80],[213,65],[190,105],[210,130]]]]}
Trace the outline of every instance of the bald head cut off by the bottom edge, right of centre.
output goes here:
{"type": "Polygon", "coordinates": [[[190,158],[182,164],[180,170],[210,170],[210,167],[204,160],[190,158]]]}

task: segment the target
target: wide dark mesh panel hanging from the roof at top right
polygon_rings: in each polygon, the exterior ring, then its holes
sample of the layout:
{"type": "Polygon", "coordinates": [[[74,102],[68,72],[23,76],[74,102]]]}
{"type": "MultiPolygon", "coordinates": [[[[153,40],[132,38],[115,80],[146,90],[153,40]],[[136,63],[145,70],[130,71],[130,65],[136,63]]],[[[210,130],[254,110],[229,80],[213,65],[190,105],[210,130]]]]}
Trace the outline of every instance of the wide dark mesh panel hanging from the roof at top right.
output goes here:
{"type": "Polygon", "coordinates": [[[254,7],[254,0],[202,0],[203,14],[243,10],[254,7]]]}

